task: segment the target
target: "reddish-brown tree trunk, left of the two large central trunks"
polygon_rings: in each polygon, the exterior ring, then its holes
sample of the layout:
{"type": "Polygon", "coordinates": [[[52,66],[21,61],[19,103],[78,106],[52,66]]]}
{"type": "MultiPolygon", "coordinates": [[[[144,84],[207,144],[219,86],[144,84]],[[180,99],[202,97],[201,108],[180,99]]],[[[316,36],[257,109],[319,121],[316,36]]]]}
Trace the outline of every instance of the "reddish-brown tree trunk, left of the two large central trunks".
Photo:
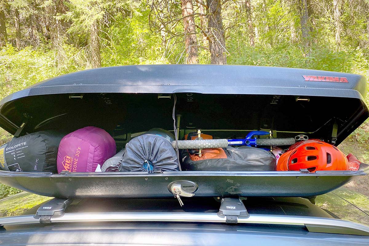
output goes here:
{"type": "Polygon", "coordinates": [[[195,17],[192,0],[181,0],[184,27],[184,45],[186,46],[186,64],[199,64],[195,17]],[[189,16],[190,15],[190,16],[189,16]]]}

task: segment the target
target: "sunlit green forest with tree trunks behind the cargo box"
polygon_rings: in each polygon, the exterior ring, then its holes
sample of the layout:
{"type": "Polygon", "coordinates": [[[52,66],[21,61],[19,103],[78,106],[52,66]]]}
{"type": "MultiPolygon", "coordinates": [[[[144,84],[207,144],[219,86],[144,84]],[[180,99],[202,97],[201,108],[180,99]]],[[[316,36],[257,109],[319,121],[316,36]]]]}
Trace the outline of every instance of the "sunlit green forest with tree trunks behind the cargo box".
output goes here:
{"type": "MultiPolygon", "coordinates": [[[[368,55],[369,0],[0,0],[0,100],[116,65],[283,66],[368,78],[368,55]]],[[[367,121],[339,147],[369,163],[368,131],[367,121]]],[[[10,139],[0,128],[0,144],[10,139]]],[[[369,195],[369,177],[347,187],[369,195]]],[[[0,184],[0,198],[18,192],[0,184]]]]}

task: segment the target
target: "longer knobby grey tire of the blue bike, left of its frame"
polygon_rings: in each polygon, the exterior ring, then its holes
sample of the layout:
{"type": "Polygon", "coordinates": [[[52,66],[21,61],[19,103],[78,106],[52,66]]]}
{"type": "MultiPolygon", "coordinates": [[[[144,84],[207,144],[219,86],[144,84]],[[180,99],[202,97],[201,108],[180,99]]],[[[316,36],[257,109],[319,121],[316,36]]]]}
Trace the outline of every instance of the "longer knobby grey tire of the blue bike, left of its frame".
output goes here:
{"type": "MultiPolygon", "coordinates": [[[[176,141],[172,142],[176,148],[176,141]]],[[[227,139],[178,140],[178,149],[214,149],[228,146],[227,139]]]]}

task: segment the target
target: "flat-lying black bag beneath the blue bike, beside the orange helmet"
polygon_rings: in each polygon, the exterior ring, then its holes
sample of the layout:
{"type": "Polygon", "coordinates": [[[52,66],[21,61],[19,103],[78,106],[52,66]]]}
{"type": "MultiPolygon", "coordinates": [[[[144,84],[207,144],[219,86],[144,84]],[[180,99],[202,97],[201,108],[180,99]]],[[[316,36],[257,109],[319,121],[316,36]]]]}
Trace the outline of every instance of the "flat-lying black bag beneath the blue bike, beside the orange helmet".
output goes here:
{"type": "Polygon", "coordinates": [[[181,152],[182,170],[186,171],[275,171],[276,157],[273,153],[259,148],[228,146],[223,149],[224,158],[194,158],[188,150],[181,152]],[[195,160],[196,159],[196,160],[195,160]]]}

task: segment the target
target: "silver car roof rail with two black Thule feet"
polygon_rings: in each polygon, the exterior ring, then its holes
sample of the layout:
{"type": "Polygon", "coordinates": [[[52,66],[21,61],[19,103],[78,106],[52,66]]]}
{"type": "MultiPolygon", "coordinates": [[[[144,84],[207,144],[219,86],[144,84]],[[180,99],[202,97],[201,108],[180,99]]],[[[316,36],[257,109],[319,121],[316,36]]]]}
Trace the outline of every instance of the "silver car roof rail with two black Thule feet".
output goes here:
{"type": "Polygon", "coordinates": [[[223,198],[219,212],[70,212],[65,209],[70,199],[54,198],[37,209],[35,215],[0,218],[0,227],[21,224],[79,222],[198,222],[225,224],[297,225],[309,232],[369,236],[369,226],[342,219],[248,214],[239,198],[223,198]]]}

